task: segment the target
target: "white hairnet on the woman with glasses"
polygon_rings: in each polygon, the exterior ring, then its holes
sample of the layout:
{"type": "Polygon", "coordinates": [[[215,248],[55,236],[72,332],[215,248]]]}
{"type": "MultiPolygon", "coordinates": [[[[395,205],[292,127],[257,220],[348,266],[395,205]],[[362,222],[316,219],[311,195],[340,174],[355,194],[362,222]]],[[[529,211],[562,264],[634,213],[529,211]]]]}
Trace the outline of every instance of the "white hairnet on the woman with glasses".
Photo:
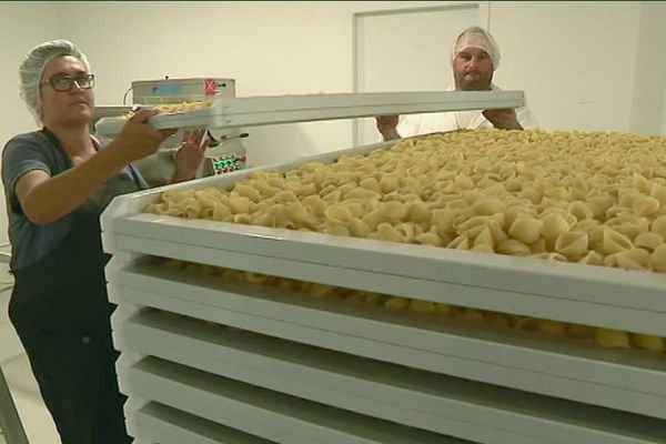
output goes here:
{"type": "Polygon", "coordinates": [[[19,68],[21,99],[23,99],[38,123],[41,122],[42,117],[41,77],[47,64],[60,56],[71,56],[79,59],[85,67],[85,70],[90,71],[90,64],[85,54],[68,40],[51,40],[32,48],[19,68]]]}

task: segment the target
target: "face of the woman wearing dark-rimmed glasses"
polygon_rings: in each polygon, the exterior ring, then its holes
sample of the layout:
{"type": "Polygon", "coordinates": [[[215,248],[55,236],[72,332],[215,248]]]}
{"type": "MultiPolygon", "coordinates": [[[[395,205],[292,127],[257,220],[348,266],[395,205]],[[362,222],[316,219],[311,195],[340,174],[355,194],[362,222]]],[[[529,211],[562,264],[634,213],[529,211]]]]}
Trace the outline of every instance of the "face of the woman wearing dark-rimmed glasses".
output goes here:
{"type": "Polygon", "coordinates": [[[85,65],[71,56],[58,57],[49,62],[40,82],[44,124],[72,127],[90,123],[94,112],[92,88],[82,89],[73,82],[69,91],[58,91],[49,83],[51,79],[59,77],[77,78],[85,73],[85,65]]]}

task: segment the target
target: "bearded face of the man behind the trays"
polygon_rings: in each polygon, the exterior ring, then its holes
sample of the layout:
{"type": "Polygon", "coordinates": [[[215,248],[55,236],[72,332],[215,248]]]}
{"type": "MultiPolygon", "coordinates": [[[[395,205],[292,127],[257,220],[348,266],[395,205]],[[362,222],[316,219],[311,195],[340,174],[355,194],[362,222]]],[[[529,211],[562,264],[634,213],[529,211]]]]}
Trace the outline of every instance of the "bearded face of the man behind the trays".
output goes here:
{"type": "Polygon", "coordinates": [[[465,48],[453,59],[453,77],[458,91],[486,91],[493,81],[493,62],[481,48],[465,48]]]}

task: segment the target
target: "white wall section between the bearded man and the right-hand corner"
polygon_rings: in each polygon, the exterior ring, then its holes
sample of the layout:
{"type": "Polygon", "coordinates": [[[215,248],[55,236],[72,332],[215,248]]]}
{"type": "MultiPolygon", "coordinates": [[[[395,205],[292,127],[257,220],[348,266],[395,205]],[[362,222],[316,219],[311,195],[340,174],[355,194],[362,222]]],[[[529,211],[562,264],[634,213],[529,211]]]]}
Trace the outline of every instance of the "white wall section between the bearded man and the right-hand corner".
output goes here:
{"type": "Polygon", "coordinates": [[[642,2],[492,2],[496,82],[525,90],[542,128],[628,131],[642,2]]]}

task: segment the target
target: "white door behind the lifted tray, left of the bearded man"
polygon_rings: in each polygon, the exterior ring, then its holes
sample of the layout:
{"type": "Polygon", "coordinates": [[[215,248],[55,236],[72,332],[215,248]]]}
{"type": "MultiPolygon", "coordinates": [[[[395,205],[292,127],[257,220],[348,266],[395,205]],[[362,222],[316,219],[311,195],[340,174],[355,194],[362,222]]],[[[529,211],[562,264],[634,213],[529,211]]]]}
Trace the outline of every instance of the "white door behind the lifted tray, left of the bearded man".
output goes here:
{"type": "MultiPolygon", "coordinates": [[[[487,23],[487,2],[354,14],[354,91],[444,91],[453,39],[487,23]]],[[[355,145],[381,141],[370,118],[356,120],[353,135],[355,145]]]]}

